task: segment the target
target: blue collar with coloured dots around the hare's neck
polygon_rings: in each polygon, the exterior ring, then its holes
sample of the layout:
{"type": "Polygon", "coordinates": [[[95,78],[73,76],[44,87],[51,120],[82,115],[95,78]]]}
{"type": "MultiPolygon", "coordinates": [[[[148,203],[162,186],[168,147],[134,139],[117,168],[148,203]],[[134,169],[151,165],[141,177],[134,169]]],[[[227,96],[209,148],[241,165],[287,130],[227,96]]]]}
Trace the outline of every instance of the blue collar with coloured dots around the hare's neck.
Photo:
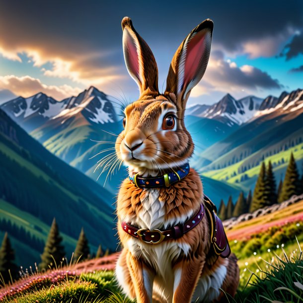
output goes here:
{"type": "Polygon", "coordinates": [[[129,177],[130,181],[134,183],[137,187],[169,187],[170,184],[184,179],[189,173],[189,163],[185,163],[176,170],[172,170],[162,176],[152,177],[152,178],[142,178],[137,174],[133,177],[129,177]]]}

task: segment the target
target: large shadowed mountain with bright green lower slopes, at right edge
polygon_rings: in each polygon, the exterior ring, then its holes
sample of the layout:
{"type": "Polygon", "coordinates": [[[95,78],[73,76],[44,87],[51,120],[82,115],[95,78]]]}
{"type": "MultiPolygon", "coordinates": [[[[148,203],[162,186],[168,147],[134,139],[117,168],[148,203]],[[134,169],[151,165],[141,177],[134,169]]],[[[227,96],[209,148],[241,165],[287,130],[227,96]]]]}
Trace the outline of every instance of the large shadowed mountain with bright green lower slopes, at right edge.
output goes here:
{"type": "Polygon", "coordinates": [[[276,100],[268,100],[264,101],[275,107],[257,112],[224,140],[199,154],[194,165],[204,176],[241,184],[247,190],[253,187],[263,159],[272,160],[278,180],[285,173],[291,151],[301,163],[303,90],[283,92],[276,100]]]}

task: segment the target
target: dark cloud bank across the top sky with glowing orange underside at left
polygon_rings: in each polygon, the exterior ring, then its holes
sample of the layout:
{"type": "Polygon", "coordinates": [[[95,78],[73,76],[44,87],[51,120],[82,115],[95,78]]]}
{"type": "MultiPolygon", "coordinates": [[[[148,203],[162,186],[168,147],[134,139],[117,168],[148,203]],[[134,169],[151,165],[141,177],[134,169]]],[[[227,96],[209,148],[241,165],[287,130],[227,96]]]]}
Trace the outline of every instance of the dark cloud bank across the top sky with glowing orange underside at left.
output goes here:
{"type": "MultiPolygon", "coordinates": [[[[251,58],[271,56],[303,26],[303,1],[289,0],[288,5],[258,0],[253,5],[243,0],[234,0],[232,5],[223,0],[189,2],[175,5],[172,14],[167,14],[171,3],[155,2],[157,18],[165,20],[163,26],[154,22],[153,14],[143,14],[145,7],[136,1],[118,0],[115,6],[110,1],[91,1],[85,7],[78,0],[73,5],[59,0],[21,1],[18,10],[13,1],[4,1],[0,10],[0,53],[17,61],[26,53],[37,67],[51,63],[51,68],[45,68],[46,76],[98,85],[127,75],[120,26],[127,14],[152,48],[173,47],[173,52],[198,22],[212,18],[214,46],[251,58]],[[182,22],[176,22],[179,19],[182,22]]],[[[148,3],[143,5],[149,7],[148,3]]]]}

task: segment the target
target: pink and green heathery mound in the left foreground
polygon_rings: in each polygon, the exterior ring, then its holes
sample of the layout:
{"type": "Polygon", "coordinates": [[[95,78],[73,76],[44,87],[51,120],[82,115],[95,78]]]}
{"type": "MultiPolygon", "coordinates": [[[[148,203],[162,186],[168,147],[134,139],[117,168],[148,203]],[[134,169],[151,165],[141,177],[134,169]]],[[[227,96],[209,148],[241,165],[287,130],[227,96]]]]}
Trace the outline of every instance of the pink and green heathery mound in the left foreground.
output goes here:
{"type": "Polygon", "coordinates": [[[120,294],[113,272],[54,270],[23,277],[0,292],[3,303],[131,303],[120,294]]]}

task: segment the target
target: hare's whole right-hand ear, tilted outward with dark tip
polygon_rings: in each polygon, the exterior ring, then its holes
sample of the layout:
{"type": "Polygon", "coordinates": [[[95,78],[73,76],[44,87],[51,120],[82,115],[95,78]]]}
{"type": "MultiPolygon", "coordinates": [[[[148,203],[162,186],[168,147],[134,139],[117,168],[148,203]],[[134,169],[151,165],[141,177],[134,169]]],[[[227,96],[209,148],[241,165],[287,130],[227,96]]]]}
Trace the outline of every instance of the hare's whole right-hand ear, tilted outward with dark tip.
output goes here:
{"type": "Polygon", "coordinates": [[[191,89],[202,79],[211,52],[214,23],[204,20],[194,28],[176,51],[168,72],[165,93],[174,93],[185,108],[191,89]]]}

